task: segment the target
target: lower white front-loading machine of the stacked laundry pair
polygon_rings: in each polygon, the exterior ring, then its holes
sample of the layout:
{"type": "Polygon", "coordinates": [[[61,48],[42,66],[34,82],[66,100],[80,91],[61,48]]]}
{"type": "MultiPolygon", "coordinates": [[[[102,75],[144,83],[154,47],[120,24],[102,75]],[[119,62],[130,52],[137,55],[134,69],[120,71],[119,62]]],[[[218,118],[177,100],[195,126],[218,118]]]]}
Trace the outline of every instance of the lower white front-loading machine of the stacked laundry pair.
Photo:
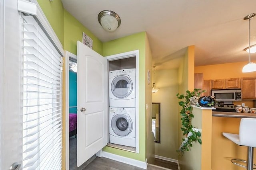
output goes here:
{"type": "Polygon", "coordinates": [[[136,147],[136,108],[109,108],[109,142],[136,147]]]}

